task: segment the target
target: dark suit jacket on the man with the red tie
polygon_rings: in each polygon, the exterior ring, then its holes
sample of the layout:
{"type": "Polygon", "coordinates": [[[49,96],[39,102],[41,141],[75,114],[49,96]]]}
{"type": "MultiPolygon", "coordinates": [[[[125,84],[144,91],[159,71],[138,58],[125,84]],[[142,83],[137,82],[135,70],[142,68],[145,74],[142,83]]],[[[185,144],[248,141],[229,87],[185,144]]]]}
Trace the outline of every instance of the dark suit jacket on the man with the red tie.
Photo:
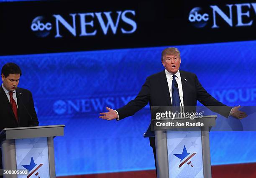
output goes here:
{"type": "Polygon", "coordinates": [[[4,128],[11,127],[38,126],[38,119],[31,92],[27,89],[16,88],[16,93],[21,93],[20,98],[17,99],[18,122],[15,119],[8,97],[3,87],[0,86],[0,131],[4,128]],[[25,107],[31,115],[32,120],[25,107]]]}

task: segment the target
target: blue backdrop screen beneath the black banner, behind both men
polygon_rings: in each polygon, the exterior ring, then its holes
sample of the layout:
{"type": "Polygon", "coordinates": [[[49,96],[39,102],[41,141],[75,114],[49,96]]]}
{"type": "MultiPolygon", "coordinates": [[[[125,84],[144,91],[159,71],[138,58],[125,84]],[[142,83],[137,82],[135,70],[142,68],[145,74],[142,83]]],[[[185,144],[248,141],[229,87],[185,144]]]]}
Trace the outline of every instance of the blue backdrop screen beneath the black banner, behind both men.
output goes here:
{"type": "MultiPolygon", "coordinates": [[[[177,46],[181,69],[197,74],[216,99],[230,106],[256,104],[256,41],[177,46]]],[[[40,125],[66,125],[56,137],[56,175],[154,169],[148,139],[149,107],[120,122],[99,119],[122,107],[146,77],[164,70],[165,47],[1,56],[23,72],[40,125]]],[[[254,132],[211,132],[212,165],[256,161],[254,132]]]]}

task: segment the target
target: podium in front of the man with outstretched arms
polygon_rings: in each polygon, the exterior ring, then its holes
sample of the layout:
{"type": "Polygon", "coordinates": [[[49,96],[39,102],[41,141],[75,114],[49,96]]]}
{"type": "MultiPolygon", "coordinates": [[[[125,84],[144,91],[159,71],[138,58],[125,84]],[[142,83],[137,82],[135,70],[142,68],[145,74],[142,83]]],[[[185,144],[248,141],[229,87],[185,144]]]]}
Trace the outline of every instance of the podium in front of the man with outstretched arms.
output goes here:
{"type": "Polygon", "coordinates": [[[144,137],[155,137],[158,178],[212,177],[209,131],[216,117],[151,120],[144,137]]]}

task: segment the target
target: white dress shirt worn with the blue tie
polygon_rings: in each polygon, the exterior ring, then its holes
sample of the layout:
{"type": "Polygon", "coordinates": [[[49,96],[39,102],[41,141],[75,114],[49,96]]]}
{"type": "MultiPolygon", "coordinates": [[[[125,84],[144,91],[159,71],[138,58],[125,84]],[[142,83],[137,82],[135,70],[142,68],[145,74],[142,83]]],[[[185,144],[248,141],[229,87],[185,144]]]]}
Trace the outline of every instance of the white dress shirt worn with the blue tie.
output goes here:
{"type": "MultiPolygon", "coordinates": [[[[173,80],[173,75],[172,73],[168,72],[166,69],[165,69],[165,75],[166,75],[166,78],[167,78],[167,83],[168,83],[168,87],[169,87],[169,92],[170,92],[170,97],[171,97],[171,101],[172,101],[172,80],[173,80]]],[[[180,73],[179,71],[177,71],[177,73],[175,74],[176,75],[176,81],[178,83],[178,89],[179,89],[179,97],[180,97],[180,100],[181,100],[181,103],[182,103],[182,106],[184,106],[184,103],[183,103],[183,91],[182,91],[182,82],[181,82],[181,77],[180,77],[180,73]]]]}

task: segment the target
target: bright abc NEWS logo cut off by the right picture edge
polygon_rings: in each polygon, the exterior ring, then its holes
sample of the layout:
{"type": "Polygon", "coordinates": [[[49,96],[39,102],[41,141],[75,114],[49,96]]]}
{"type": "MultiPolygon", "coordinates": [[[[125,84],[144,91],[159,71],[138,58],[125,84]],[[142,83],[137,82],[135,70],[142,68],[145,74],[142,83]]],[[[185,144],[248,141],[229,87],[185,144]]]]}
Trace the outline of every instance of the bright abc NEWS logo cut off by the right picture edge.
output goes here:
{"type": "Polygon", "coordinates": [[[189,12],[189,22],[196,28],[202,28],[212,18],[211,28],[219,28],[219,24],[223,22],[230,27],[251,26],[256,19],[256,3],[227,4],[225,7],[210,5],[210,10],[193,8],[189,12]]]}

